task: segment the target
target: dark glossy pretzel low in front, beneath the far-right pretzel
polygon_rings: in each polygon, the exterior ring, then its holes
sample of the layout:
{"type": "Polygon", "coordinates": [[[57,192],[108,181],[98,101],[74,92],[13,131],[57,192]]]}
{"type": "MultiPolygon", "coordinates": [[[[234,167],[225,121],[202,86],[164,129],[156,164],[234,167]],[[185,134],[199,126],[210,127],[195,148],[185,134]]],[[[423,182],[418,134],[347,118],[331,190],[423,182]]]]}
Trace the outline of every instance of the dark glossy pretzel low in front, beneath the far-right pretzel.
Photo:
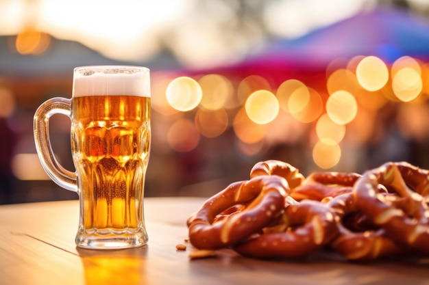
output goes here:
{"type": "MultiPolygon", "coordinates": [[[[402,249],[396,245],[382,228],[363,229],[361,224],[354,229],[345,225],[347,215],[359,213],[353,193],[338,195],[328,202],[336,213],[339,235],[330,243],[330,247],[349,260],[371,260],[381,256],[397,254],[402,249]],[[355,231],[358,228],[360,231],[355,231]]],[[[355,226],[355,225],[354,225],[355,226]]]]}

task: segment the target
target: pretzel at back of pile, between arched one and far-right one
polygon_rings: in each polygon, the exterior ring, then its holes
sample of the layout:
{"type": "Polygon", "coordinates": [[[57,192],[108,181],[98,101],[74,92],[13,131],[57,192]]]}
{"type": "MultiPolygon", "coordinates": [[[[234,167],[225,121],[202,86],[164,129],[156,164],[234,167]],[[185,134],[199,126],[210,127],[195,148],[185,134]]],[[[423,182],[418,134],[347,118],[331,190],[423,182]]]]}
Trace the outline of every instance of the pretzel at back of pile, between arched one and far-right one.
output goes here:
{"type": "MultiPolygon", "coordinates": [[[[291,197],[298,201],[304,199],[321,201],[343,193],[352,193],[353,185],[358,178],[360,174],[356,173],[313,172],[301,185],[293,189],[291,197]]],[[[387,191],[384,187],[382,189],[387,191]]]]}

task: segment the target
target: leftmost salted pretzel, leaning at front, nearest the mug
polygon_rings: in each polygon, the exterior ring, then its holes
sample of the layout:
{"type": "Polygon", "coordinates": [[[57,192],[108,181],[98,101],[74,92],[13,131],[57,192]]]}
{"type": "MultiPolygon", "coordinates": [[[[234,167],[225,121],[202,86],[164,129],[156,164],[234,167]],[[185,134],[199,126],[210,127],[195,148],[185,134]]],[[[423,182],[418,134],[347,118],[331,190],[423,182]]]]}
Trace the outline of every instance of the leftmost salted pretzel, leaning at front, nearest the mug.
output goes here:
{"type": "Polygon", "coordinates": [[[232,183],[188,218],[191,243],[199,249],[220,249],[242,241],[282,215],[289,191],[280,176],[257,176],[232,183]],[[245,206],[240,211],[228,215],[228,209],[241,204],[245,206]]]}

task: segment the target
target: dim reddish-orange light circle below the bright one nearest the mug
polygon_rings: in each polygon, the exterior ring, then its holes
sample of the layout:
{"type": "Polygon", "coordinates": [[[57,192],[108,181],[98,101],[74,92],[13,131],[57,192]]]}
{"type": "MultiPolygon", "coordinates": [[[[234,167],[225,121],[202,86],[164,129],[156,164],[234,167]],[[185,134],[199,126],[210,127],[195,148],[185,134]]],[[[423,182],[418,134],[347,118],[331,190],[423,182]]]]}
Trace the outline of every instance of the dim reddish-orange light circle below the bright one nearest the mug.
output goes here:
{"type": "Polygon", "coordinates": [[[190,152],[197,147],[200,135],[193,122],[180,119],[174,122],[167,133],[171,149],[177,152],[190,152]]]}

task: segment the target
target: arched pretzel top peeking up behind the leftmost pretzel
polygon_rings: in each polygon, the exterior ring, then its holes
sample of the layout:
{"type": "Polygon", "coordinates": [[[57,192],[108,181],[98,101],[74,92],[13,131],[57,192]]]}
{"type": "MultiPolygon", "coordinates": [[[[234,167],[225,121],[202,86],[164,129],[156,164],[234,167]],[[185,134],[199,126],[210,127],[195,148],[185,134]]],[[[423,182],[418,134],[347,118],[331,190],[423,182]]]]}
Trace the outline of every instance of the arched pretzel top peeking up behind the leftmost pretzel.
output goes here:
{"type": "Polygon", "coordinates": [[[294,189],[301,185],[304,176],[299,173],[299,170],[289,163],[283,161],[269,160],[260,161],[250,170],[250,177],[254,178],[261,175],[278,175],[285,178],[290,189],[294,189]]]}

